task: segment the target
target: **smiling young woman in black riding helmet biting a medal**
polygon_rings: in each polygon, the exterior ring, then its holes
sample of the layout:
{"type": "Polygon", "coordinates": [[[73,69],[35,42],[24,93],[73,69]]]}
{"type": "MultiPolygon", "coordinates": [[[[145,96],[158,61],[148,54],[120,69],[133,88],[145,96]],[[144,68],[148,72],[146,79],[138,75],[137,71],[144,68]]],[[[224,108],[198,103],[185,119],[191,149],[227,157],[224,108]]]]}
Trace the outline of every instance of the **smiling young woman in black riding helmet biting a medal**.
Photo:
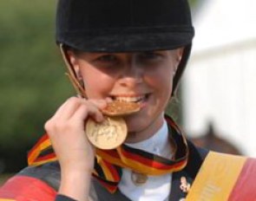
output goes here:
{"type": "Polygon", "coordinates": [[[0,198],[185,200],[209,154],[164,111],[193,36],[186,0],[59,0],[56,42],[84,97],[69,98],[46,122],[30,166],[3,185],[0,198]],[[123,116],[125,142],[102,150],[85,125],[102,123],[112,101],[135,102],[140,111],[123,116]]]}

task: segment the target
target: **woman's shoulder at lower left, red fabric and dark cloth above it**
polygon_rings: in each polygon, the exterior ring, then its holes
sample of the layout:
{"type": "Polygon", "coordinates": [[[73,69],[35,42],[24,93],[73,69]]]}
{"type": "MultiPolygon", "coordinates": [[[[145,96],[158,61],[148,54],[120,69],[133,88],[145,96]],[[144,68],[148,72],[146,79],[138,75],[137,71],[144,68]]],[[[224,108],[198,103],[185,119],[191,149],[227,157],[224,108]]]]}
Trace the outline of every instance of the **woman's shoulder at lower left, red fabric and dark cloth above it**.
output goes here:
{"type": "Polygon", "coordinates": [[[60,179],[60,166],[57,162],[28,166],[1,186],[0,199],[54,200],[60,185],[60,179]]]}

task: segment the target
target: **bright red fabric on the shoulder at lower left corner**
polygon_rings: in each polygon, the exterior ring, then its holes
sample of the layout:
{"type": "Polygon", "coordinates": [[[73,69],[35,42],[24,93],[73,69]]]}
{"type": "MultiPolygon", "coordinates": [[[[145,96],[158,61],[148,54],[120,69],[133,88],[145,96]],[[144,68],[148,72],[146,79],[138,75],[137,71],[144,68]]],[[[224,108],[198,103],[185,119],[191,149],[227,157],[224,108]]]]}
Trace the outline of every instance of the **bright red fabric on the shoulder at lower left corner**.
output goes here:
{"type": "Polygon", "coordinates": [[[15,176],[0,188],[0,200],[1,198],[16,201],[52,201],[56,198],[56,191],[38,178],[15,176]]]}

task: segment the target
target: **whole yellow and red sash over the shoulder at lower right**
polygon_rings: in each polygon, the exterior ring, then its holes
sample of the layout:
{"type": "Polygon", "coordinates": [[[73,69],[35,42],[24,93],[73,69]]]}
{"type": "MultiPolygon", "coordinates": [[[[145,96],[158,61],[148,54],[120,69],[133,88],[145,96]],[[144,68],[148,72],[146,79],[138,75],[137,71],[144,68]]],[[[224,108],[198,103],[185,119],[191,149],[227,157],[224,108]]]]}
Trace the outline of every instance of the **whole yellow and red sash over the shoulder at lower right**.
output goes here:
{"type": "Polygon", "coordinates": [[[256,159],[209,152],[186,201],[256,200],[256,159]]]}

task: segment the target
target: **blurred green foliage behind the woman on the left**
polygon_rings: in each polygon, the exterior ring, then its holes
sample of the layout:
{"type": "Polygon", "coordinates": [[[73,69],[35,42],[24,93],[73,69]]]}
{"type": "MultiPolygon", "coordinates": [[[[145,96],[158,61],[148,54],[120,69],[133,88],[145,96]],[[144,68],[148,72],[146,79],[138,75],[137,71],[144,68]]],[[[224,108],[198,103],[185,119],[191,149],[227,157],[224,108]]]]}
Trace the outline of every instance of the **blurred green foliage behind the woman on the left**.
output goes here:
{"type": "Polygon", "coordinates": [[[0,159],[32,146],[73,94],[55,44],[55,9],[53,0],[0,2],[0,159]]]}

